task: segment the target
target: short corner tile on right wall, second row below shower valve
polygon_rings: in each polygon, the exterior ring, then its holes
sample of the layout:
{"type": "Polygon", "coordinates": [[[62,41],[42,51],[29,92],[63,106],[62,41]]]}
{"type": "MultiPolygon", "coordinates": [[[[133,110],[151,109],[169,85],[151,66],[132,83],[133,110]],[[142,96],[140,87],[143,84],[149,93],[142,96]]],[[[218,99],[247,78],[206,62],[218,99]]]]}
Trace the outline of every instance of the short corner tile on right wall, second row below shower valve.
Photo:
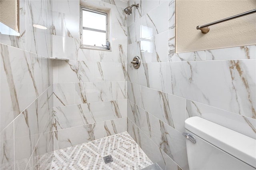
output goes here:
{"type": "Polygon", "coordinates": [[[127,94],[128,94],[128,100],[130,100],[132,103],[135,103],[136,105],[141,107],[140,85],[127,82],[127,94]]]}

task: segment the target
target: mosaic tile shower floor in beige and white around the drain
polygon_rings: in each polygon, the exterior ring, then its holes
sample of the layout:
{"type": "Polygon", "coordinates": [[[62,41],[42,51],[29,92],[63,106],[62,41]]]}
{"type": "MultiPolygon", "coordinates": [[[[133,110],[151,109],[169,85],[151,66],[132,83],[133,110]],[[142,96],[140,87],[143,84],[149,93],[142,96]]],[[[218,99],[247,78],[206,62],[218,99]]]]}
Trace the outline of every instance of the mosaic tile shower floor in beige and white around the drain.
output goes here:
{"type": "Polygon", "coordinates": [[[140,170],[152,162],[127,132],[56,150],[51,170],[140,170]],[[112,155],[114,162],[104,163],[112,155]]]}

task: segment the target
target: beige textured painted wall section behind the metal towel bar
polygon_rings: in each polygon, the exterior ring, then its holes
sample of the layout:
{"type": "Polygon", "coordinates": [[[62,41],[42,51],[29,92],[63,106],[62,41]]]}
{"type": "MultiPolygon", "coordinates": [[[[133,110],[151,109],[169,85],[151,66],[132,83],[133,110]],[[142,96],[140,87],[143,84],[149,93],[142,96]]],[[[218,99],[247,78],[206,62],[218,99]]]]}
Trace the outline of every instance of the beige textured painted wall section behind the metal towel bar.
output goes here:
{"type": "Polygon", "coordinates": [[[177,0],[176,3],[177,53],[256,44],[256,13],[210,26],[207,34],[196,30],[198,25],[255,9],[255,0],[177,0]]]}

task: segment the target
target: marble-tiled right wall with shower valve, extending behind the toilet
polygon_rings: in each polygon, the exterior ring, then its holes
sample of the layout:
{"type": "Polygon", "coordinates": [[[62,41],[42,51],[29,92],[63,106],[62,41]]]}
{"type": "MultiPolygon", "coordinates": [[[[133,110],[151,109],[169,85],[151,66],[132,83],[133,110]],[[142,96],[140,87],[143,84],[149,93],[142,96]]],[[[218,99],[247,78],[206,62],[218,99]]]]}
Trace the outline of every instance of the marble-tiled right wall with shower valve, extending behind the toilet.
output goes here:
{"type": "Polygon", "coordinates": [[[188,117],[256,138],[256,45],[175,53],[175,0],[128,4],[140,7],[127,16],[127,61],[142,64],[127,67],[127,131],[152,162],[189,169],[188,117]]]}

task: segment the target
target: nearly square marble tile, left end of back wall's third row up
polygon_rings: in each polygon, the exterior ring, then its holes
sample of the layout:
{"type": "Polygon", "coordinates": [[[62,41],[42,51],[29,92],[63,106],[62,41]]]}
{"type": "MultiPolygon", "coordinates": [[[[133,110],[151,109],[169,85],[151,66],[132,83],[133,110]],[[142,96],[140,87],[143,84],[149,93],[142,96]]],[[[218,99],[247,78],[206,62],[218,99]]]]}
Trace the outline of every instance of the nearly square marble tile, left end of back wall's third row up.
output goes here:
{"type": "Polygon", "coordinates": [[[53,103],[54,107],[75,104],[75,84],[58,83],[53,84],[53,103]]]}

